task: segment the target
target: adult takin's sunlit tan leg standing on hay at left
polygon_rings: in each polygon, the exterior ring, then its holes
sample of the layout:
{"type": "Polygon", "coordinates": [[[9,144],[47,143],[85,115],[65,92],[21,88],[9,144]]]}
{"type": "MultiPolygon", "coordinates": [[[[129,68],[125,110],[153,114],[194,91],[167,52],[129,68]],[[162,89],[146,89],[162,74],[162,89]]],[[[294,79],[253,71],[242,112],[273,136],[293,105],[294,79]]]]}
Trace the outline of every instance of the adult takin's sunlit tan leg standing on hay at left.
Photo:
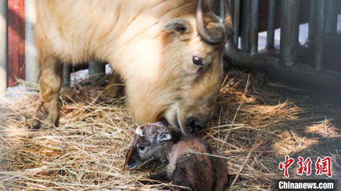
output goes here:
{"type": "Polygon", "coordinates": [[[63,65],[55,57],[48,57],[41,63],[41,77],[39,80],[39,105],[33,128],[45,128],[51,125],[58,126],[57,101],[62,82],[63,65]]]}

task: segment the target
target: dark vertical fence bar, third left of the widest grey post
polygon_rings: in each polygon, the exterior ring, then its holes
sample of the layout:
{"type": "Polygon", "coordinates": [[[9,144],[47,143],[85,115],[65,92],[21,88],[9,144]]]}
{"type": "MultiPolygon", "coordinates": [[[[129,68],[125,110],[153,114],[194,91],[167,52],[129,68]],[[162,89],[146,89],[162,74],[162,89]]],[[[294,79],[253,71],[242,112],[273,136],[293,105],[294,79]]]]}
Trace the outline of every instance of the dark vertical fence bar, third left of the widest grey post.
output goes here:
{"type": "Polygon", "coordinates": [[[242,26],[240,29],[240,46],[243,51],[248,50],[248,28],[249,28],[249,18],[250,18],[250,1],[245,0],[243,1],[243,6],[242,6],[242,26]]]}

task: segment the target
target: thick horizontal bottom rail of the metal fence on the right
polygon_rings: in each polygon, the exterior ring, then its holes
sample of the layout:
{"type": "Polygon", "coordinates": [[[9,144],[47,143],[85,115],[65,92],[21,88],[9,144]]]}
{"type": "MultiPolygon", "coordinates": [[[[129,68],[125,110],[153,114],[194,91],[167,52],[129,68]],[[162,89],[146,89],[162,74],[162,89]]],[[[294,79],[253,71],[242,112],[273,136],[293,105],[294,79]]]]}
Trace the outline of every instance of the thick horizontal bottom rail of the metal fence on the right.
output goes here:
{"type": "Polygon", "coordinates": [[[341,72],[328,69],[315,70],[312,66],[295,63],[290,67],[280,67],[279,59],[265,54],[249,54],[227,43],[225,58],[234,66],[259,70],[270,77],[290,79],[297,83],[314,84],[314,87],[341,89],[341,72]]]}

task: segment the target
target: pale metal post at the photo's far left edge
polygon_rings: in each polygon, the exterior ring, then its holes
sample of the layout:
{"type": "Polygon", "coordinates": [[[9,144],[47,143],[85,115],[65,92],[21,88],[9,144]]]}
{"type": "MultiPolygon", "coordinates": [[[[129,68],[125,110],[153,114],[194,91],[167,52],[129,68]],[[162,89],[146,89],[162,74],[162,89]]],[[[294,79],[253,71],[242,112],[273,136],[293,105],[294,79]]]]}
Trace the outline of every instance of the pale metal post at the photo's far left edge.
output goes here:
{"type": "Polygon", "coordinates": [[[0,98],[7,88],[7,0],[0,0],[0,98]]]}

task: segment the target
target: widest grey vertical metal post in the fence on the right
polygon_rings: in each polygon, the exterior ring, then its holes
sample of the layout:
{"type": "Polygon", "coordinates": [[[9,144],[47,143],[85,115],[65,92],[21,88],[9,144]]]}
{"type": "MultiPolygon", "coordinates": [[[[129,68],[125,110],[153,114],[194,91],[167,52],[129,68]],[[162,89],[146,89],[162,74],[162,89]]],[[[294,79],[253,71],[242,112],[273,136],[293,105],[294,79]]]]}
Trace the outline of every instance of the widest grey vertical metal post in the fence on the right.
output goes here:
{"type": "Polygon", "coordinates": [[[299,0],[282,0],[280,65],[287,67],[296,61],[299,36],[299,0]]]}

